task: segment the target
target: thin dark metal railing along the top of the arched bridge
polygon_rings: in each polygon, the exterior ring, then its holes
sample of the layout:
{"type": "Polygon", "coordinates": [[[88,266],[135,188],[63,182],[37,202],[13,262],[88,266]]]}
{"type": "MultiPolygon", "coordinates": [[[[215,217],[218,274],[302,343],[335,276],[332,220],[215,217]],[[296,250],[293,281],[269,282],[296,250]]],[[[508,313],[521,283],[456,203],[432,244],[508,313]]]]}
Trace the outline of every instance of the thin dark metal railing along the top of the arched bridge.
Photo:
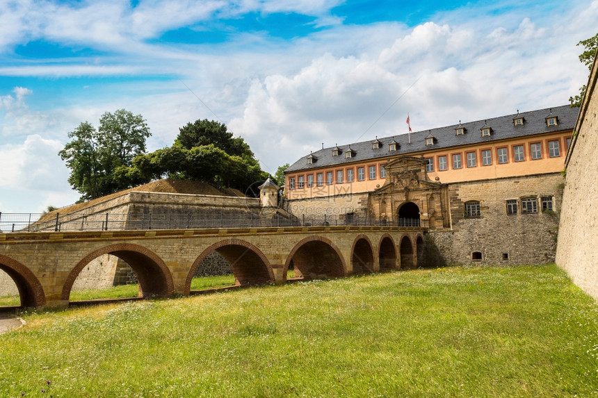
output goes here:
{"type": "Polygon", "coordinates": [[[299,215],[275,213],[94,213],[47,215],[0,213],[0,233],[49,231],[124,231],[147,229],[215,229],[288,226],[426,226],[423,220],[366,215],[299,215]]]}

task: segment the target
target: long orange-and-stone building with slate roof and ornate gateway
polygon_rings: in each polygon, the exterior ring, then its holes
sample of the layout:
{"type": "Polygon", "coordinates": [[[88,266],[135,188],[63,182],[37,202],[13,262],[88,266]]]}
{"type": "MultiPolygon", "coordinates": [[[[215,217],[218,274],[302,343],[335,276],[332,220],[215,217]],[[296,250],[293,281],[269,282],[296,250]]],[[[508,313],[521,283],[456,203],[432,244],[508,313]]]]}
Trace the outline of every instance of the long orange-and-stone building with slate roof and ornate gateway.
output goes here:
{"type": "Polygon", "coordinates": [[[321,149],[286,169],[286,210],[314,224],[426,226],[420,265],[551,262],[578,113],[558,106],[321,149]]]}

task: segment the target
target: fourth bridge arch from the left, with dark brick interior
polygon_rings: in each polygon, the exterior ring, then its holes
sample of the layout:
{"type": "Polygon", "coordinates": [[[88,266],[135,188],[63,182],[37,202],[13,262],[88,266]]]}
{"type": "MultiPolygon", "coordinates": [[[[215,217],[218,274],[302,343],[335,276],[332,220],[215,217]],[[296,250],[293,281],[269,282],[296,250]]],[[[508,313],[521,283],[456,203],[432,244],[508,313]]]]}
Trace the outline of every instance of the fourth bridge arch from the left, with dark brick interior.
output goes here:
{"type": "Polygon", "coordinates": [[[347,266],[339,248],[332,240],[317,235],[308,236],[293,247],[284,263],[284,281],[291,261],[296,276],[299,272],[305,279],[339,278],[347,274],[347,266]]]}

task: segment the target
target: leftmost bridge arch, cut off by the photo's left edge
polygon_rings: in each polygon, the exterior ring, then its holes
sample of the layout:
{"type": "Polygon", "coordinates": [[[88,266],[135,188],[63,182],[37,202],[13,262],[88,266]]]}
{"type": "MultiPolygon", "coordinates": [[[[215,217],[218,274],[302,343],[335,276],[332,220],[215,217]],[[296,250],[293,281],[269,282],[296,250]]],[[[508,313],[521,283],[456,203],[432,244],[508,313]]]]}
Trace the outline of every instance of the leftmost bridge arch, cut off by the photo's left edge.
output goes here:
{"type": "Polygon", "coordinates": [[[0,254],[0,270],[6,272],[17,285],[22,307],[39,307],[46,304],[44,288],[29,268],[13,258],[0,254]]]}

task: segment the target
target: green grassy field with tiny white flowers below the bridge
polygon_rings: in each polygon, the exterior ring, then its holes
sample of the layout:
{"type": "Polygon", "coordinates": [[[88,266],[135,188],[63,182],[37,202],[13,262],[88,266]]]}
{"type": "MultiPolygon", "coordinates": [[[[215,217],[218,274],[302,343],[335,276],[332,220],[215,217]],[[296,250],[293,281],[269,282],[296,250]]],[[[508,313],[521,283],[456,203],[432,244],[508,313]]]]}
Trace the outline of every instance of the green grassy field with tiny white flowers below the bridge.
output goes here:
{"type": "Polygon", "coordinates": [[[1,397],[598,395],[598,306],[553,265],[22,316],[0,335],[1,397]]]}

